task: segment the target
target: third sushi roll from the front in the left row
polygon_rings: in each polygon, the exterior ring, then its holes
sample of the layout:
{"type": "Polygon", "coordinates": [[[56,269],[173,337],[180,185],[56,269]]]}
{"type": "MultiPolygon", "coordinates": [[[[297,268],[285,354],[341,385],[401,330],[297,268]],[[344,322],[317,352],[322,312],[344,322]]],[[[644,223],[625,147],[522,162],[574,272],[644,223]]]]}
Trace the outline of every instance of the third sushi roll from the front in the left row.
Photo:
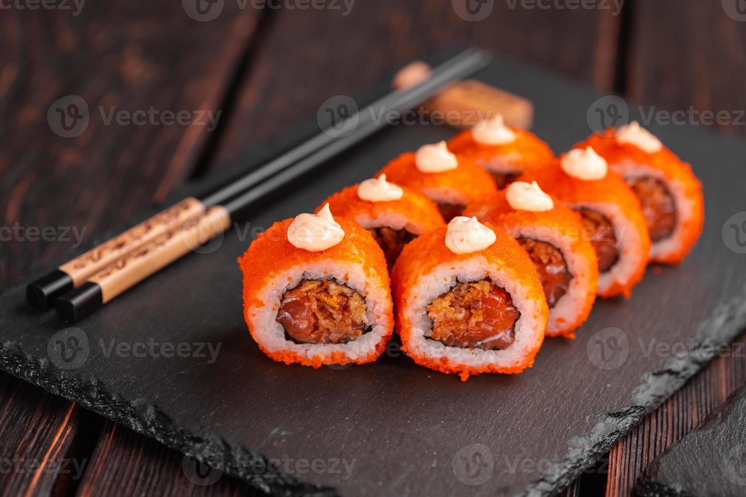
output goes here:
{"type": "Polygon", "coordinates": [[[376,174],[419,191],[438,204],[443,219],[451,221],[468,203],[495,193],[495,182],[471,159],[457,158],[445,142],[423,145],[389,162],[376,174]]]}

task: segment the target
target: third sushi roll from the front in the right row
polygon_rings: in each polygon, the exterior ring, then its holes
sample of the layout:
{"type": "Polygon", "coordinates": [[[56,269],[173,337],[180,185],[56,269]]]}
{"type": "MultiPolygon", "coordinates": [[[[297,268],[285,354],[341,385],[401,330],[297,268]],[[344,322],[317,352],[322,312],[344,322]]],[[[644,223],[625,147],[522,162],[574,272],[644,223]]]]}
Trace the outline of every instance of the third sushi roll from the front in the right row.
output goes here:
{"type": "Polygon", "coordinates": [[[651,239],[640,201],[592,148],[575,148],[521,176],[567,203],[583,220],[598,258],[599,297],[630,297],[648,265],[651,239]]]}

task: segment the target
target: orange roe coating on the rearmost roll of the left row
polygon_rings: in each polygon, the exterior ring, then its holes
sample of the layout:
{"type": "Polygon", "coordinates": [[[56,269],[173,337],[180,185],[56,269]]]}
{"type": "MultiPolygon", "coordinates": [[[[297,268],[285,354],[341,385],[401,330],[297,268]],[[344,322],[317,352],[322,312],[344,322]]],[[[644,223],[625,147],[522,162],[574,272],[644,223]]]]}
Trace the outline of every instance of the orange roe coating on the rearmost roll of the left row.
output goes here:
{"type": "Polygon", "coordinates": [[[502,145],[489,145],[476,142],[471,135],[471,130],[465,130],[448,141],[448,149],[459,156],[465,156],[473,160],[477,165],[487,168],[487,164],[495,157],[514,155],[510,163],[515,165],[518,171],[541,166],[554,159],[554,153],[542,139],[539,139],[530,131],[511,127],[515,133],[515,140],[502,145]],[[517,155],[516,155],[517,154],[517,155]],[[520,156],[520,159],[518,159],[520,156]]]}

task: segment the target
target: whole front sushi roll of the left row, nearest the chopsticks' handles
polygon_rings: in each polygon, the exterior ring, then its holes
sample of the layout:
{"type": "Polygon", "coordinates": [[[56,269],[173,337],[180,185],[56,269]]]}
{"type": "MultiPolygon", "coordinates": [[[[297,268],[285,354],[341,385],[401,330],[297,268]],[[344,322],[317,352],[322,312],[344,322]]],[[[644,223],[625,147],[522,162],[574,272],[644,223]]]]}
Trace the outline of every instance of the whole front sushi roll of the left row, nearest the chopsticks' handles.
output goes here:
{"type": "Polygon", "coordinates": [[[318,214],[279,221],[239,258],[244,317],[275,361],[320,367],[374,361],[393,330],[386,259],[353,221],[318,214]]]}

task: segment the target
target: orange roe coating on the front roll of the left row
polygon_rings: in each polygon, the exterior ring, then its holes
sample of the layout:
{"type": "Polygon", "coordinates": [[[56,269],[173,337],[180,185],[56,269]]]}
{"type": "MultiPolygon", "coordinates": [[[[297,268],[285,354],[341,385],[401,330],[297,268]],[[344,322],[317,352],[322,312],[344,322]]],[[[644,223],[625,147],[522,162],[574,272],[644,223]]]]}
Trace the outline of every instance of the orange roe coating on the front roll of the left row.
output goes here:
{"type": "MultiPolygon", "coordinates": [[[[287,229],[293,219],[278,221],[272,224],[265,232],[260,233],[257,238],[248,246],[248,250],[238,258],[238,263],[243,273],[243,308],[246,324],[252,338],[257,342],[259,348],[266,355],[278,362],[285,364],[298,363],[304,366],[321,367],[322,364],[363,364],[375,361],[378,356],[386,349],[386,342],[391,338],[393,332],[393,311],[392,306],[386,314],[386,322],[389,323],[389,329],[386,330],[385,336],[381,338],[373,352],[357,360],[351,360],[344,352],[333,352],[330,357],[319,357],[314,355],[307,358],[298,355],[290,350],[269,351],[261,341],[257,340],[254,334],[254,325],[252,320],[256,317],[256,311],[263,308],[266,304],[260,300],[260,293],[277,278],[280,273],[294,268],[303,268],[304,265],[314,264],[322,261],[345,262],[349,265],[360,265],[366,274],[366,282],[369,285],[382,288],[386,297],[391,298],[389,270],[386,268],[386,259],[383,251],[373,239],[373,236],[367,229],[360,227],[353,221],[345,218],[335,218],[345,236],[339,244],[333,247],[311,252],[309,250],[299,249],[287,241],[287,229]]],[[[345,275],[345,280],[347,279],[345,275]]],[[[367,297],[363,295],[363,297],[367,297]]],[[[277,304],[274,304],[277,306],[277,304]]]]}

